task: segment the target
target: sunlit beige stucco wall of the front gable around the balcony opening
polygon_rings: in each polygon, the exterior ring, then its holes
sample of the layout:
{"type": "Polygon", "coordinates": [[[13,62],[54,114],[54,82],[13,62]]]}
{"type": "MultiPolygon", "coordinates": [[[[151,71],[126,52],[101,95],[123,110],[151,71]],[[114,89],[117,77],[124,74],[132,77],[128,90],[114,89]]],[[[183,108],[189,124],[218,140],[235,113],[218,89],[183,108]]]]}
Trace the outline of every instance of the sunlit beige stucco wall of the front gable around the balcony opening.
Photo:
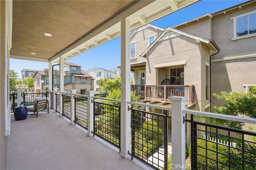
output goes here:
{"type": "Polygon", "coordinates": [[[178,36],[159,41],[151,48],[147,55],[146,84],[159,84],[162,79],[165,79],[166,75],[169,78],[169,70],[166,68],[156,69],[155,64],[178,61],[186,61],[186,65],[184,65],[184,84],[195,85],[197,104],[194,109],[204,111],[205,62],[209,62],[209,49],[201,43],[197,44],[194,39],[178,36]],[[158,73],[157,70],[159,70],[158,73]]]}

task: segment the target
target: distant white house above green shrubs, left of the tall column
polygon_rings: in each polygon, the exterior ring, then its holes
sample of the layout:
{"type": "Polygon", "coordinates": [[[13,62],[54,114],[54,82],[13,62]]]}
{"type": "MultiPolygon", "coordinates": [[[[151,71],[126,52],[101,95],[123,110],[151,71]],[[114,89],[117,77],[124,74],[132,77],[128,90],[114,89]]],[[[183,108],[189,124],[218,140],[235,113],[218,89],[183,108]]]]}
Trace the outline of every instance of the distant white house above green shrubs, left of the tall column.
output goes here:
{"type": "Polygon", "coordinates": [[[100,79],[115,79],[121,74],[120,69],[115,68],[111,70],[102,69],[100,67],[94,67],[87,70],[87,72],[94,78],[93,90],[99,91],[99,80],[100,79]]]}

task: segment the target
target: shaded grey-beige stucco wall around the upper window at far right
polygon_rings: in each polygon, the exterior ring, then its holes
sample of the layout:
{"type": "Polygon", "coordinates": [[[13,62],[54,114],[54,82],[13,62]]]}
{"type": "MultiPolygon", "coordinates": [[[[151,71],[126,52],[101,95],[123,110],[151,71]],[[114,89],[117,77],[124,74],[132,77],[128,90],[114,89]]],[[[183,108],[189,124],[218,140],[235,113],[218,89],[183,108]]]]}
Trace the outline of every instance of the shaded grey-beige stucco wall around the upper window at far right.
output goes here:
{"type": "MultiPolygon", "coordinates": [[[[256,37],[231,40],[234,36],[233,17],[256,10],[256,2],[227,11],[226,14],[206,16],[199,21],[178,27],[179,30],[205,36],[211,30],[211,38],[220,47],[220,53],[212,57],[213,61],[227,57],[256,55],[256,37]],[[207,25],[206,20],[212,20],[207,25]],[[212,25],[210,27],[210,25],[212,25]],[[209,28],[210,27],[210,28],[209,28]],[[209,28],[209,29],[208,29],[209,28]]],[[[207,37],[205,37],[207,38],[207,37]]],[[[215,52],[212,52],[212,54],[215,52]]],[[[220,91],[245,92],[243,84],[256,84],[256,57],[212,63],[212,93],[220,91]]],[[[212,98],[212,106],[221,106],[222,101],[212,98]]]]}

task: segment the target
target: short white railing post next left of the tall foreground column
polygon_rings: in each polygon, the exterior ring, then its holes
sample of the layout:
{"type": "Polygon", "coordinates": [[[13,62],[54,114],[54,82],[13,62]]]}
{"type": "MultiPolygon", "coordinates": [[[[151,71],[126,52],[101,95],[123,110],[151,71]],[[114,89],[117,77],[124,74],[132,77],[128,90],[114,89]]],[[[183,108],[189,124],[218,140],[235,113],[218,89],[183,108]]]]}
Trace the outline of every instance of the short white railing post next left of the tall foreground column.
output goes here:
{"type": "Polygon", "coordinates": [[[89,96],[87,100],[87,109],[88,109],[88,116],[87,116],[87,135],[90,137],[92,136],[93,131],[93,96],[95,94],[95,91],[89,91],[89,96]]]}

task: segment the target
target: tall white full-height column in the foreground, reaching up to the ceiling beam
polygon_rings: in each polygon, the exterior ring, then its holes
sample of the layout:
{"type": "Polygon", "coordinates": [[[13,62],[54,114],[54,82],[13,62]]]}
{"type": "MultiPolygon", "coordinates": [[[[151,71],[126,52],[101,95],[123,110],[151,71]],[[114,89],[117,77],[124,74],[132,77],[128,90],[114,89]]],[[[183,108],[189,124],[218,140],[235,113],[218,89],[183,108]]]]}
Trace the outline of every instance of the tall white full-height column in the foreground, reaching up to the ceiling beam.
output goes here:
{"type": "Polygon", "coordinates": [[[130,21],[121,21],[121,155],[127,158],[131,144],[131,114],[127,101],[131,100],[130,21]]]}

